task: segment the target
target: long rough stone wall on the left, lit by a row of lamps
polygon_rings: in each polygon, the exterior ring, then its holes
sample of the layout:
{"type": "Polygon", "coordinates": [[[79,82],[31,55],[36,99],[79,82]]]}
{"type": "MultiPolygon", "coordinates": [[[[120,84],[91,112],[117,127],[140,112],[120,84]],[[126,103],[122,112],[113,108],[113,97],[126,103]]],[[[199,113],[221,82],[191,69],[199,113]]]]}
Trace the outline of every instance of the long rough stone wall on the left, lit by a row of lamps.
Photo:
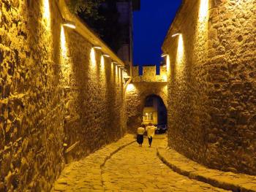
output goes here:
{"type": "Polygon", "coordinates": [[[121,72],[92,46],[56,1],[0,1],[0,191],[50,191],[65,159],[124,135],[121,72]]]}

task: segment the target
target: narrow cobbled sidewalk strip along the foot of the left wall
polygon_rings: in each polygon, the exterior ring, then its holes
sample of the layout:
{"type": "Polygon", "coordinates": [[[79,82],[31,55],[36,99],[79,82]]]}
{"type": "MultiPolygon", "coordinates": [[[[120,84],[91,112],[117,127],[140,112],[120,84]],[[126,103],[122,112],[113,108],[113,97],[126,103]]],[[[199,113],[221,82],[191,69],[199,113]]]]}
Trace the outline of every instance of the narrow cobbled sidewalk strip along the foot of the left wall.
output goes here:
{"type": "Polygon", "coordinates": [[[132,142],[134,136],[128,134],[80,161],[67,164],[52,191],[103,191],[102,166],[113,153],[132,142]]]}

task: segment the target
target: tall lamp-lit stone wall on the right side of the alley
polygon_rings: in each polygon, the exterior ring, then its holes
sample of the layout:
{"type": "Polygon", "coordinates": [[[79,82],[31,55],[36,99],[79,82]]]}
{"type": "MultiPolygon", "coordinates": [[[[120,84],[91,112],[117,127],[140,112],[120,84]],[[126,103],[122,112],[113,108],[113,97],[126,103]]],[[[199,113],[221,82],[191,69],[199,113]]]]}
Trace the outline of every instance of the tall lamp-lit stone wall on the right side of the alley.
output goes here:
{"type": "Polygon", "coordinates": [[[255,13],[254,0],[186,0],[162,46],[169,145],[214,169],[256,172],[255,13]]]}

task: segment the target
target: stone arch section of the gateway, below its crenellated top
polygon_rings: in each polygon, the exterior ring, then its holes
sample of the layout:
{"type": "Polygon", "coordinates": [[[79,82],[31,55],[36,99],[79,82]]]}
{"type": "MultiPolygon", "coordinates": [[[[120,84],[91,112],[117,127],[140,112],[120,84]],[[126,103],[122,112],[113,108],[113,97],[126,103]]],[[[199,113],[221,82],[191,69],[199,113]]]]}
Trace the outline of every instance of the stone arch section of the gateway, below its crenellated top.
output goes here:
{"type": "Polygon", "coordinates": [[[143,107],[147,96],[157,95],[167,107],[167,84],[164,82],[136,82],[130,83],[126,92],[127,130],[135,133],[143,119],[143,107]]]}

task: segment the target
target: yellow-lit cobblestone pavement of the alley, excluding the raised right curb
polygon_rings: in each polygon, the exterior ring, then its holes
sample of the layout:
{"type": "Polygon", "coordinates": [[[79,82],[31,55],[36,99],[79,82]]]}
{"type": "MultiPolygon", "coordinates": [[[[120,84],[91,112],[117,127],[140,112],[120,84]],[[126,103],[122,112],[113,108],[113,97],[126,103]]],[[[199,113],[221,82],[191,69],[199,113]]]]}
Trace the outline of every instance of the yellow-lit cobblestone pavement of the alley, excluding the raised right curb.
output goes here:
{"type": "Polygon", "coordinates": [[[225,191],[191,180],[162,164],[157,146],[165,145],[166,140],[158,136],[152,147],[145,139],[143,147],[134,142],[109,156],[100,157],[97,152],[67,166],[53,191],[225,191]]]}

